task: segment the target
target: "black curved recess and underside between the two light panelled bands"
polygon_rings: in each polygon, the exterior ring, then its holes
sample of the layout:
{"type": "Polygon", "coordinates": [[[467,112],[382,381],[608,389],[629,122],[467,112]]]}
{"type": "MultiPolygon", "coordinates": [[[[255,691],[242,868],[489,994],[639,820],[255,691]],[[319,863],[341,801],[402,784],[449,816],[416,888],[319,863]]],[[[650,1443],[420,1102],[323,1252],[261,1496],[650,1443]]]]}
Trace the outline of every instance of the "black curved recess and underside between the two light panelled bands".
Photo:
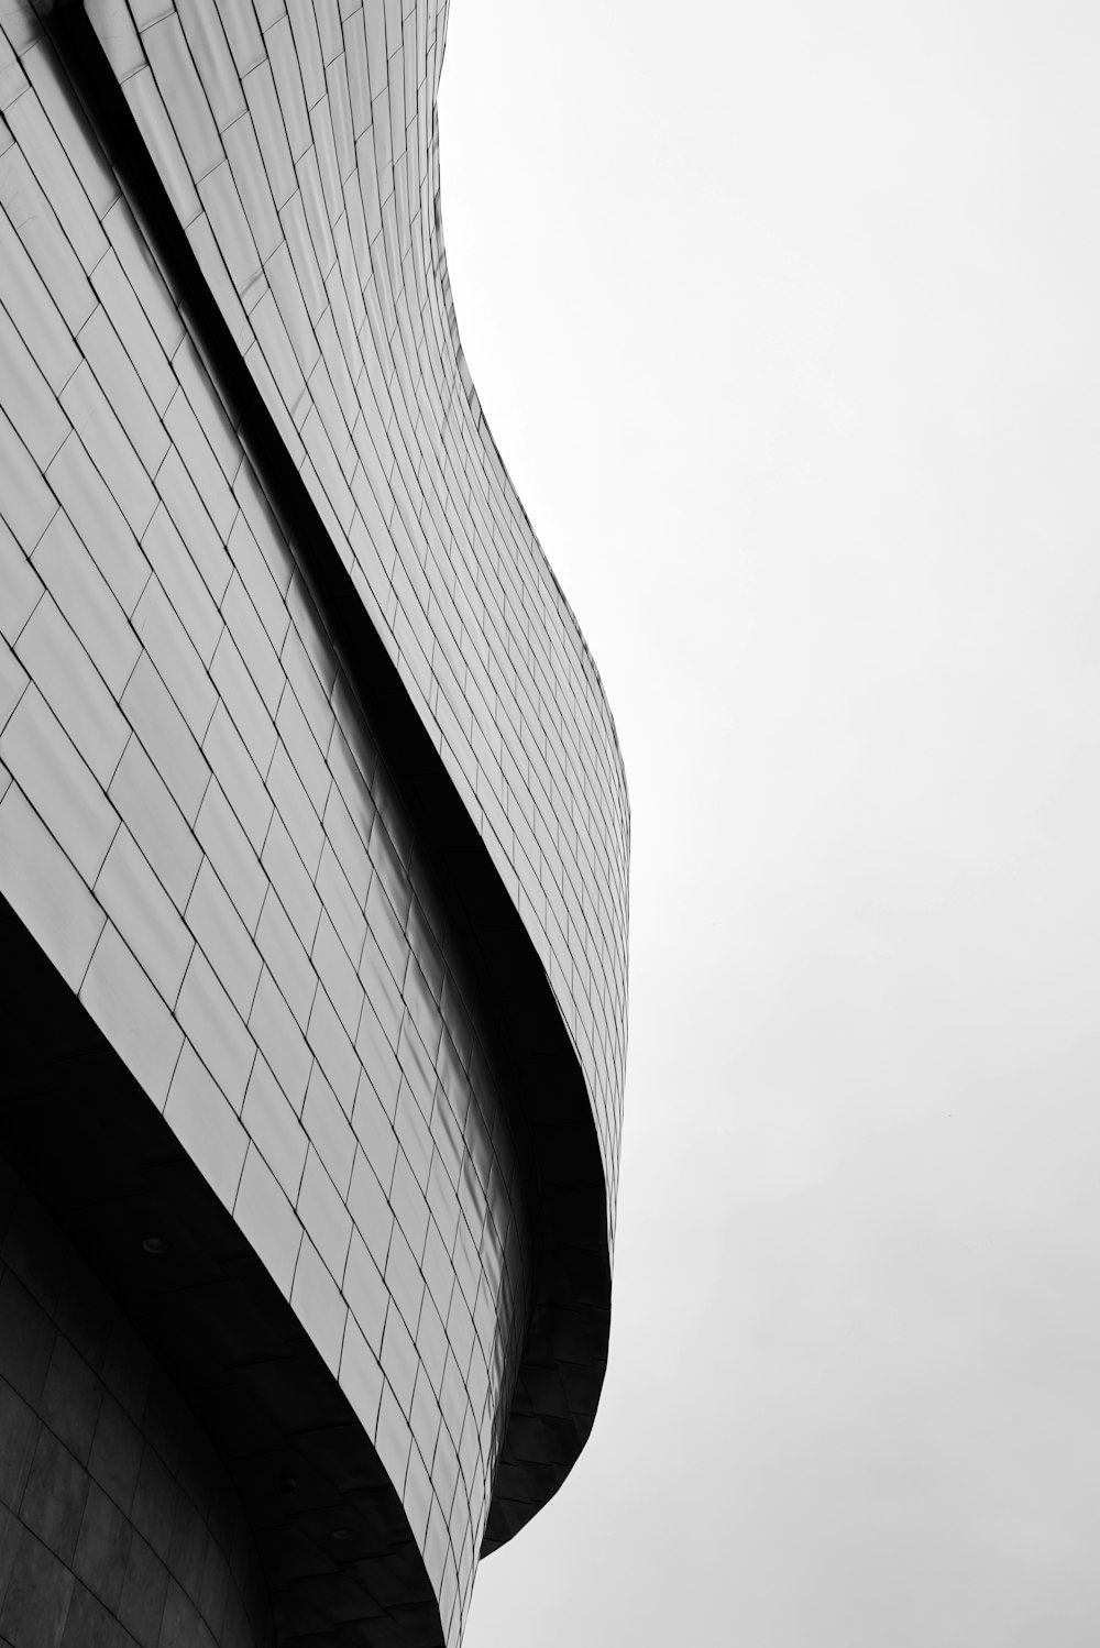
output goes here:
{"type": "Polygon", "coordinates": [[[84,0],[36,0],[36,5],[138,221],[186,292],[186,320],[239,422],[240,438],[300,555],[303,574],[311,580],[349,679],[385,740],[418,839],[464,908],[515,1048],[522,1050],[519,1109],[535,1144],[542,1216],[532,1320],[482,1544],[484,1551],[492,1551],[517,1533],[568,1475],[591,1430],[606,1368],[611,1313],[608,1187],[580,1056],[520,913],[290,461],[199,269],[84,0]]]}

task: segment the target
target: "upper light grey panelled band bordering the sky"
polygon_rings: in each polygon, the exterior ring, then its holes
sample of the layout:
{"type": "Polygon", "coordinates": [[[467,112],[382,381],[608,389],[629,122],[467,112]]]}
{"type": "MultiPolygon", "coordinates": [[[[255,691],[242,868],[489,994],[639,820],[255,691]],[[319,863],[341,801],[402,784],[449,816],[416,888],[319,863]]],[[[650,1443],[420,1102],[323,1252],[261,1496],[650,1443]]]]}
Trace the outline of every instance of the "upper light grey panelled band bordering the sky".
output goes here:
{"type": "Polygon", "coordinates": [[[91,0],[268,409],[534,939],[613,1226],[629,808],[573,613],[489,435],[440,224],[435,0],[91,0]]]}

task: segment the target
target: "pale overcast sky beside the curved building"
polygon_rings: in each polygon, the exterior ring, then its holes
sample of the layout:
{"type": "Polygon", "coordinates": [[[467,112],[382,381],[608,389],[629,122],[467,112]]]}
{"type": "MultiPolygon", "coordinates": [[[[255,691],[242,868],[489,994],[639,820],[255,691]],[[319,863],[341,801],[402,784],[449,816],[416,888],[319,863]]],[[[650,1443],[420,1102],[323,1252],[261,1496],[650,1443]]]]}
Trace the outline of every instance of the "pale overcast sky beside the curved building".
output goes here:
{"type": "Polygon", "coordinates": [[[468,1648],[1100,1640],[1100,7],[453,0],[634,811],[611,1366],[468,1648]]]}

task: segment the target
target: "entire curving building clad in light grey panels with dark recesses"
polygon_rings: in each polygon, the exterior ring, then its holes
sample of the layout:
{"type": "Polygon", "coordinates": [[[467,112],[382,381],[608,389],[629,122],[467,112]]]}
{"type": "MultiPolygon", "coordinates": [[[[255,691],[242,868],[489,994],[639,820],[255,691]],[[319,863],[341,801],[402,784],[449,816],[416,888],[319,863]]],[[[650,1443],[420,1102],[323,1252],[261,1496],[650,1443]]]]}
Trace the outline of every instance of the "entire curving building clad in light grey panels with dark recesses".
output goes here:
{"type": "Polygon", "coordinates": [[[608,1345],[629,812],[445,0],[0,8],[0,1638],[456,1645],[608,1345]]]}

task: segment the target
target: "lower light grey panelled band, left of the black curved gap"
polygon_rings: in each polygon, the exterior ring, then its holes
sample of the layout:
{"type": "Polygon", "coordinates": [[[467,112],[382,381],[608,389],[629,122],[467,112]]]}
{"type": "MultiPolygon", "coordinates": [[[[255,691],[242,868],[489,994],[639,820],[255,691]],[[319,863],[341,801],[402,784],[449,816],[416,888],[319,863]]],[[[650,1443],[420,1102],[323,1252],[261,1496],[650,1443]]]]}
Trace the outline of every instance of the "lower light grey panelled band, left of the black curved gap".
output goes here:
{"type": "Polygon", "coordinates": [[[2,890],[338,1374],[456,1638],[527,1317],[494,1053],[173,295],[5,30],[2,890]]]}

